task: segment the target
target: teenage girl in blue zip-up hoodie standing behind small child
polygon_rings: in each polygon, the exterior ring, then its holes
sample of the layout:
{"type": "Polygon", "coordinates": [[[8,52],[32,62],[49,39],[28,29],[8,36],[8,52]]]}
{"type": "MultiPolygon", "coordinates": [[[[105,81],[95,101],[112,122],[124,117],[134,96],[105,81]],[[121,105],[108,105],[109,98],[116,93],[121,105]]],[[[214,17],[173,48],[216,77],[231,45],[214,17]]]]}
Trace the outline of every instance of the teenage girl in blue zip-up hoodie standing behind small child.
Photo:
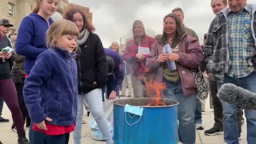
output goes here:
{"type": "MultiPolygon", "coordinates": [[[[59,0],[37,0],[31,14],[23,18],[20,23],[15,50],[17,54],[24,55],[26,62],[24,65],[26,77],[34,67],[39,54],[47,50],[45,36],[47,29],[53,23],[51,15],[57,11],[59,0]]],[[[32,144],[41,144],[46,141],[46,135],[42,132],[32,130],[33,121],[29,129],[29,141],[32,144]],[[41,140],[34,137],[41,135],[41,140]],[[43,136],[44,135],[44,136],[43,136]]]]}

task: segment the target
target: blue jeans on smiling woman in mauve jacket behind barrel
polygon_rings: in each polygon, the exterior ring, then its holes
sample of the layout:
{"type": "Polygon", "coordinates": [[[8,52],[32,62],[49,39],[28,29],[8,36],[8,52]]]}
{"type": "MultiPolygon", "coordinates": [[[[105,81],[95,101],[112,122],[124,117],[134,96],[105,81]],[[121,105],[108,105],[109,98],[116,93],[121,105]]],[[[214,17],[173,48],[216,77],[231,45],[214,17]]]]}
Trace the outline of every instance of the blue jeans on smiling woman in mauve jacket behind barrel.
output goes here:
{"type": "Polygon", "coordinates": [[[179,140],[182,143],[194,144],[196,141],[195,128],[195,110],[196,94],[185,97],[181,87],[181,82],[169,82],[164,79],[166,89],[163,91],[163,97],[166,99],[176,100],[178,105],[179,120],[179,140]]]}

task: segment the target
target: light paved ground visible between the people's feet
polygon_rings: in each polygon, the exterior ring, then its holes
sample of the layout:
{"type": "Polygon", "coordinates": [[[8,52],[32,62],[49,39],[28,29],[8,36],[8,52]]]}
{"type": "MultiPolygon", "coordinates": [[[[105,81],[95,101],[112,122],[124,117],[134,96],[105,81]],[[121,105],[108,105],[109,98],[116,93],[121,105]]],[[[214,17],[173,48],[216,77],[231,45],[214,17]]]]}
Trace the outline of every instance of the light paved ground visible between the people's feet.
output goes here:
{"type": "MultiPolygon", "coordinates": [[[[209,99],[206,100],[206,109],[205,112],[202,114],[203,116],[203,124],[205,130],[210,129],[213,126],[213,110],[210,110],[209,108],[209,99]]],[[[0,123],[0,141],[2,141],[4,144],[17,144],[18,136],[17,133],[13,132],[11,130],[12,126],[12,118],[11,118],[11,112],[9,109],[4,105],[3,109],[3,117],[9,118],[9,123],[0,123]]],[[[91,137],[91,130],[89,128],[88,119],[87,116],[84,115],[84,119],[86,120],[86,124],[83,124],[82,128],[82,144],[83,143],[89,143],[89,144],[105,144],[105,142],[102,141],[96,141],[93,140],[91,137]]],[[[240,144],[246,144],[246,123],[242,126],[242,140],[240,140],[240,144]]],[[[28,134],[28,128],[26,128],[26,132],[28,134]]],[[[214,135],[214,136],[207,136],[204,134],[204,130],[197,130],[196,133],[196,143],[201,144],[222,144],[225,143],[223,140],[223,134],[220,135],[214,135]]],[[[27,135],[28,137],[28,135],[27,135]]],[[[70,144],[73,144],[73,136],[70,135],[70,144]]],[[[147,143],[143,143],[147,144],[147,143]]],[[[162,144],[162,143],[159,143],[162,144]]]]}

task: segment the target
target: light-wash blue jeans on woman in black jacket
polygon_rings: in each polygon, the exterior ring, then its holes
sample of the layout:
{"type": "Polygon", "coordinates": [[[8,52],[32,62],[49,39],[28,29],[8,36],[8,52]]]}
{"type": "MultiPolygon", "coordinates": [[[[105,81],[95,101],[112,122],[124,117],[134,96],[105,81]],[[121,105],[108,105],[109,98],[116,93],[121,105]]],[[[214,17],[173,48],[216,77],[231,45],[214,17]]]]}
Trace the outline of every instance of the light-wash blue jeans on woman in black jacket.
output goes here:
{"type": "Polygon", "coordinates": [[[86,101],[87,105],[91,110],[91,114],[98,124],[98,127],[106,138],[107,144],[112,144],[112,135],[109,130],[108,120],[106,118],[103,102],[102,102],[102,91],[101,89],[95,89],[89,93],[78,95],[78,106],[77,106],[77,118],[76,127],[73,132],[74,144],[81,144],[81,131],[82,131],[82,118],[84,114],[83,101],[86,101]]]}

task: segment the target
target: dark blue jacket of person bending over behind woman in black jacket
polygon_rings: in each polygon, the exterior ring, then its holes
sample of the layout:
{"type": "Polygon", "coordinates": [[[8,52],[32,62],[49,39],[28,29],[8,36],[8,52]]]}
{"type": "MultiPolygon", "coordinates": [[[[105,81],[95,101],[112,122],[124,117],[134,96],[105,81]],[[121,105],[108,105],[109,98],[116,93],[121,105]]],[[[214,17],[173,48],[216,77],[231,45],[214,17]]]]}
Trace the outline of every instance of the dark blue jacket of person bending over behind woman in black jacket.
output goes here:
{"type": "Polygon", "coordinates": [[[122,86],[122,83],[123,83],[123,80],[124,80],[123,58],[120,57],[120,55],[117,52],[113,51],[113,50],[110,50],[110,49],[107,49],[107,48],[104,48],[104,50],[105,50],[106,56],[111,57],[115,62],[115,68],[114,68],[115,82],[110,82],[110,84],[115,85],[114,90],[117,92],[120,89],[120,87],[122,86]]]}

